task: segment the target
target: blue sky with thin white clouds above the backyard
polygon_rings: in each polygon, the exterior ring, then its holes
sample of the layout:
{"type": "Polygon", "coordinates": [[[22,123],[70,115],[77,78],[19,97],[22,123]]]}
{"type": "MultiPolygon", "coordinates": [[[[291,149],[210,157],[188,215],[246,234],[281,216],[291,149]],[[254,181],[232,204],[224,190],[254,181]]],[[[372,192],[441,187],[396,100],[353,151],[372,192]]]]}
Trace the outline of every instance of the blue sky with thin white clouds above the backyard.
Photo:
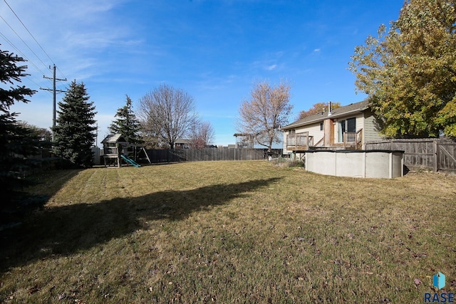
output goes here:
{"type": "Polygon", "coordinates": [[[31,103],[12,108],[21,112],[19,120],[52,125],[52,95],[39,88],[52,87],[43,75],[51,76],[48,67],[55,63],[57,77],[68,79],[58,82],[58,89],[75,79],[85,83],[98,112],[98,142],[108,135],[126,94],[135,110],[145,93],[166,83],[192,95],[202,120],[214,127],[214,144],[228,145],[234,143],[239,105],[256,81],[291,83],[290,122],[314,103],[363,100],[347,70],[350,56],[381,23],[398,19],[402,5],[402,0],[2,0],[0,47],[28,58],[31,76],[23,83],[38,91],[31,103]]]}

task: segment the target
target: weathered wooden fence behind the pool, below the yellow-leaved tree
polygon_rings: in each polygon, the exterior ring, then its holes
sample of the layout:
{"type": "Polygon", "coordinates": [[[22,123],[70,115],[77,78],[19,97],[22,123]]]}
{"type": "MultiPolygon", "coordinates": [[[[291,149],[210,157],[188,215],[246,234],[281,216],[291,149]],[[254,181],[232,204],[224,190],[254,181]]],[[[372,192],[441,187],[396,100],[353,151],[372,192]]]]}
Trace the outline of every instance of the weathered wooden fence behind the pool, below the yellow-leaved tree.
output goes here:
{"type": "Polygon", "coordinates": [[[366,150],[403,150],[407,167],[456,172],[456,142],[425,138],[366,142],[366,150]]]}

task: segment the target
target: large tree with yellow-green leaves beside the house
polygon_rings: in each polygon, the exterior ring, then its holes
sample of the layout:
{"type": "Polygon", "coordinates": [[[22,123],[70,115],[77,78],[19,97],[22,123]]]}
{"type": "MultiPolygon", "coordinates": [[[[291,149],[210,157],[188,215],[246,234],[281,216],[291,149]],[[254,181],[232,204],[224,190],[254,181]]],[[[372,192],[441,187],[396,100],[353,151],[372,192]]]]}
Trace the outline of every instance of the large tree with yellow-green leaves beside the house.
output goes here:
{"type": "Polygon", "coordinates": [[[388,137],[456,137],[456,1],[406,0],[349,63],[388,137]]]}

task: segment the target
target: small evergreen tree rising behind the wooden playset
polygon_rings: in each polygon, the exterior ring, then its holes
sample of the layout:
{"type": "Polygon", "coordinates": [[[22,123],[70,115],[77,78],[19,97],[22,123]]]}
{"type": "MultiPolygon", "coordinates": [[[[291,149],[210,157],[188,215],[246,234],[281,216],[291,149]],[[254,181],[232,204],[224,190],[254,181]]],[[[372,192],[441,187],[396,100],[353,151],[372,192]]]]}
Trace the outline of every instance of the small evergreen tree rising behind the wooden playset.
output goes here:
{"type": "Polygon", "coordinates": [[[120,133],[125,137],[130,144],[141,144],[140,140],[140,123],[136,119],[135,113],[132,110],[133,105],[130,97],[127,95],[127,103],[122,108],[117,110],[116,120],[108,127],[113,134],[120,133]]]}

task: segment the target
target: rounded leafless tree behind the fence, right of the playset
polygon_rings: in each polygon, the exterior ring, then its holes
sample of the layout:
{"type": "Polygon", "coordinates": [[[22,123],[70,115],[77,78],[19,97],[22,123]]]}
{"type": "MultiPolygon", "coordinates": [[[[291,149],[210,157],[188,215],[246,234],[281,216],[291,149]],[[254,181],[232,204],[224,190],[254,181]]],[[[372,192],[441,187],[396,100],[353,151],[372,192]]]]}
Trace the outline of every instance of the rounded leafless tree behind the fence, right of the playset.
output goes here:
{"type": "Polygon", "coordinates": [[[140,99],[138,117],[147,126],[143,132],[151,132],[173,149],[197,121],[195,101],[184,90],[162,84],[140,99]]]}

